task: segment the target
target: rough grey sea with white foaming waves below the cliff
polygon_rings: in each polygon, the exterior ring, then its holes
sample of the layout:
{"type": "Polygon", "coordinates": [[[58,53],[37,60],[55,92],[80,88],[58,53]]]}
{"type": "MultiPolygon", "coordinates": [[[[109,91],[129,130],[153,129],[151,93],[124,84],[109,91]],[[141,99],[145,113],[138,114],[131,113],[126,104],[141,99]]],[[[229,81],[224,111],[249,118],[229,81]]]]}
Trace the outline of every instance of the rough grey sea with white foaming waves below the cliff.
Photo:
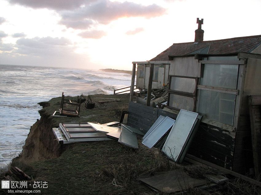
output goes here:
{"type": "Polygon", "coordinates": [[[76,68],[0,64],[0,167],[22,151],[40,119],[38,102],[65,95],[113,94],[130,86],[131,75],[76,68]]]}

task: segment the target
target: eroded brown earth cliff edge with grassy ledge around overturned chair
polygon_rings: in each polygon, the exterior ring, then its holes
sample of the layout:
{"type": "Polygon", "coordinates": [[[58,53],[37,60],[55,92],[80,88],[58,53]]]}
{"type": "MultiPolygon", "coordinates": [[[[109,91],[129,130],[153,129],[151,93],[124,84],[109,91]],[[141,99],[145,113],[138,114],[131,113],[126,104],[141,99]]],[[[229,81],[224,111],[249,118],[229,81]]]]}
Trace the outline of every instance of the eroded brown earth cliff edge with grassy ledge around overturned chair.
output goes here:
{"type": "MultiPolygon", "coordinates": [[[[59,110],[61,97],[56,97],[47,102],[38,103],[43,107],[39,110],[41,116],[40,120],[37,120],[33,126],[31,126],[25,145],[21,154],[13,159],[13,161],[39,161],[45,159],[57,158],[61,153],[70,147],[72,144],[59,145],[57,142],[52,128],[59,127],[59,123],[64,122],[89,122],[97,121],[100,123],[107,123],[115,120],[119,120],[119,113],[123,109],[127,109],[129,95],[93,95],[98,98],[123,98],[120,102],[110,102],[107,104],[99,104],[100,99],[94,99],[96,102],[95,108],[87,110],[84,108],[84,103],[81,105],[80,117],[52,117],[54,111],[59,110]],[[117,115],[118,114],[118,115],[117,115]]],[[[77,97],[65,97],[72,101],[76,101],[77,97]]]]}

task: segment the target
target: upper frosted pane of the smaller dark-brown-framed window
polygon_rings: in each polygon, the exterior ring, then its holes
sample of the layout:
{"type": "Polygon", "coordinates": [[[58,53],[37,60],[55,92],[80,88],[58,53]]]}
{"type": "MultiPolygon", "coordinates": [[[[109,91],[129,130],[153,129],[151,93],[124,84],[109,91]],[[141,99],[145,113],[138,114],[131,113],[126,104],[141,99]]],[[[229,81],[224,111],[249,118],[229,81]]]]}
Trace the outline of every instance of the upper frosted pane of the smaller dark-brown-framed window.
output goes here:
{"type": "Polygon", "coordinates": [[[170,90],[194,93],[195,89],[196,89],[195,78],[171,77],[170,79],[170,90]]]}

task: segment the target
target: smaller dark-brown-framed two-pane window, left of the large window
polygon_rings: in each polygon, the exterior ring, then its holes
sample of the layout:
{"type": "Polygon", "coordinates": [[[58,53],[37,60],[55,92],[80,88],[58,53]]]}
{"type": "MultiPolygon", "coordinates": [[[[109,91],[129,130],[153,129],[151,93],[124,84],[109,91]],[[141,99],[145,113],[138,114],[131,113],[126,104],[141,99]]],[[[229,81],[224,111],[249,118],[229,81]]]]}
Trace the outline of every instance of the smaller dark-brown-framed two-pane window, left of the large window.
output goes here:
{"type": "Polygon", "coordinates": [[[195,111],[197,78],[170,76],[168,107],[195,111]]]}

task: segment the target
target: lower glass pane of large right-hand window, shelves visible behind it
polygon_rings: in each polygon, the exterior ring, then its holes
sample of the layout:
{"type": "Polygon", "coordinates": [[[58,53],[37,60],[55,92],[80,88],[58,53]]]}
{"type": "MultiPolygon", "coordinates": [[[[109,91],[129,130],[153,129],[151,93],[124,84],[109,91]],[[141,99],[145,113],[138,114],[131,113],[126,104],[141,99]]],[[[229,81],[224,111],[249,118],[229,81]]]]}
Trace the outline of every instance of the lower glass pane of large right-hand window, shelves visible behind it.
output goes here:
{"type": "Polygon", "coordinates": [[[197,112],[221,123],[233,123],[235,95],[199,90],[197,112]]]}

